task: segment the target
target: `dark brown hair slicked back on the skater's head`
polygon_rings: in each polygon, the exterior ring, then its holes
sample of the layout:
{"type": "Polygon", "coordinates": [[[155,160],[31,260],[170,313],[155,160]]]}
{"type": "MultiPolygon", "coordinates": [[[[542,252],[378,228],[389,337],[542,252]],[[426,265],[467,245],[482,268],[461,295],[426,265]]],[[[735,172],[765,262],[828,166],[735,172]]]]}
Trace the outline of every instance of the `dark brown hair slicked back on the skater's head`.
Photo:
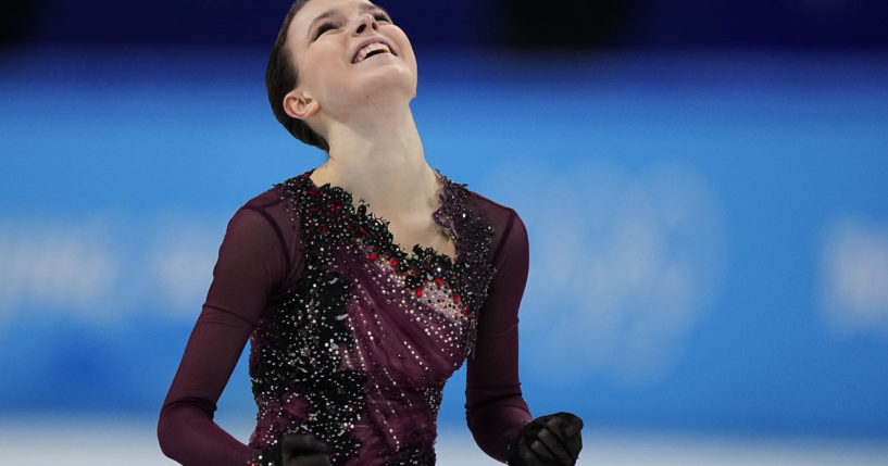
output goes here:
{"type": "Polygon", "coordinates": [[[277,33],[277,39],[272,47],[272,54],[268,56],[268,65],[265,68],[265,90],[268,92],[268,103],[272,104],[274,116],[300,141],[329,152],[330,147],[323,136],[310,128],[309,125],[299,118],[287,115],[284,111],[284,97],[293,90],[299,84],[299,71],[296,63],[290,60],[290,50],[287,47],[287,30],[290,28],[293,16],[305,3],[311,0],[296,0],[284,18],[284,25],[277,33]]]}

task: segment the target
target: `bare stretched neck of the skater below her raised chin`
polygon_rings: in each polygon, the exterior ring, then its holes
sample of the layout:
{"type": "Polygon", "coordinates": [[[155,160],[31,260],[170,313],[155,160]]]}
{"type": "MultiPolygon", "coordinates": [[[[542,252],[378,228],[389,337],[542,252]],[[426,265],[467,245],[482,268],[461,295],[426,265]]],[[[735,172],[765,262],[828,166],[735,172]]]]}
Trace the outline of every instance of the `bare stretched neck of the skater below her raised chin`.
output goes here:
{"type": "MultiPolygon", "coordinates": [[[[366,106],[365,106],[366,108],[366,106]]],[[[396,112],[351,114],[328,125],[330,158],[312,175],[367,201],[377,214],[434,209],[438,180],[428,166],[409,105],[396,112]],[[363,116],[363,117],[362,117],[363,116]]]]}

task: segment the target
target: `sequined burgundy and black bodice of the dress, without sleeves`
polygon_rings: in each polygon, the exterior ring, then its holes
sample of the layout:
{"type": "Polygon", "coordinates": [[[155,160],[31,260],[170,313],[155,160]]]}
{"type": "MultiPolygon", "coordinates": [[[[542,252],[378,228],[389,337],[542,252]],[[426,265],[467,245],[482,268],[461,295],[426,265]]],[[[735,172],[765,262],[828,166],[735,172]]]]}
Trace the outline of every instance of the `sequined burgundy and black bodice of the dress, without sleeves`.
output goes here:
{"type": "Polygon", "coordinates": [[[493,228],[440,175],[433,221],[455,259],[392,241],[385,219],[308,172],[278,186],[305,272],[251,336],[259,405],[250,445],[313,432],[334,465],[430,465],[441,390],[472,352],[493,273],[493,228]]]}

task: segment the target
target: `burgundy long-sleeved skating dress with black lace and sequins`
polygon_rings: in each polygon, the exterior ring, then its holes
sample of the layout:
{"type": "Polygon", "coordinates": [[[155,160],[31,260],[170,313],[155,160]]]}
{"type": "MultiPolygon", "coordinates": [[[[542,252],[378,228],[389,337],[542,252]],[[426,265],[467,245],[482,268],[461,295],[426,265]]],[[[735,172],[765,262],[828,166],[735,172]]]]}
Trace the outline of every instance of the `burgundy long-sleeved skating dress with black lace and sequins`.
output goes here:
{"type": "Polygon", "coordinates": [[[434,465],[441,390],[467,361],[468,427],[504,462],[531,419],[517,376],[521,218],[438,172],[433,221],[456,256],[409,253],[363,200],[312,172],[229,223],[161,411],[162,450],[187,466],[242,466],[284,432],[312,432],[334,465],[434,465]],[[248,338],[259,413],[245,445],[212,419],[248,338]]]}

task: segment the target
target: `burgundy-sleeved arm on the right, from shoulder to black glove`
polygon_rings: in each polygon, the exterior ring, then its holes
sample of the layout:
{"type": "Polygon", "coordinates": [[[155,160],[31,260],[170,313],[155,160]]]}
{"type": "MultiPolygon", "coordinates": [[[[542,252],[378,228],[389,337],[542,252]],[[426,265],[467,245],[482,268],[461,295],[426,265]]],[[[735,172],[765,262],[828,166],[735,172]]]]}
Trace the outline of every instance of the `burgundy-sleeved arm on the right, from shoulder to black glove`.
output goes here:
{"type": "Polygon", "coordinates": [[[468,357],[465,415],[475,442],[506,461],[509,443],[533,417],[518,381],[518,306],[527,282],[527,230],[512,211],[493,247],[497,268],[480,311],[475,354],[468,357]]]}

